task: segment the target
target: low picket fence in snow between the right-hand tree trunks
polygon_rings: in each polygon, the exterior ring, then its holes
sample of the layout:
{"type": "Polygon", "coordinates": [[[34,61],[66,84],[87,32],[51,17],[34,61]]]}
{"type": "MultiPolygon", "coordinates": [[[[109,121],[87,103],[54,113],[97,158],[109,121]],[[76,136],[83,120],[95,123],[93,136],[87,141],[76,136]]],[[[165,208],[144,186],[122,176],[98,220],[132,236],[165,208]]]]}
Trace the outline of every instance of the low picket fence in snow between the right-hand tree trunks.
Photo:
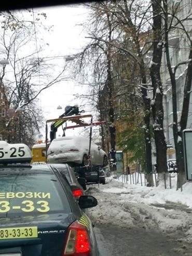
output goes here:
{"type": "MultiPolygon", "coordinates": [[[[122,181],[124,183],[129,183],[129,184],[135,184],[135,185],[141,185],[141,186],[147,186],[147,180],[146,180],[146,173],[143,172],[132,172],[130,174],[124,174],[124,173],[113,173],[112,174],[114,179],[118,179],[119,181],[122,181]]],[[[149,175],[153,176],[154,180],[154,185],[157,186],[158,183],[158,173],[150,173],[149,175]]],[[[177,180],[178,173],[168,173],[168,179],[166,177],[166,173],[163,173],[163,183],[164,183],[164,188],[173,188],[173,185],[176,185],[176,180],[177,180]],[[176,176],[176,179],[175,179],[176,176]],[[174,178],[174,182],[172,179],[174,178]]],[[[182,191],[181,187],[181,191],[182,191]]]]}

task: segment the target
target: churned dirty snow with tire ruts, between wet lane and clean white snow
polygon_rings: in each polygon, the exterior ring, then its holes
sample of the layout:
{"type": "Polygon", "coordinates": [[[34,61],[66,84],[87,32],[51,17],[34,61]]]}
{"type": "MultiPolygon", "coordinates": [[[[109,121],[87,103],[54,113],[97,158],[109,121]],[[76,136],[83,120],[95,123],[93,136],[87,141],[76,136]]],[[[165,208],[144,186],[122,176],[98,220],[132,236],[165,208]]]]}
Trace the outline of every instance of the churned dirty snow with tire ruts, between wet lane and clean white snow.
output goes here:
{"type": "Polygon", "coordinates": [[[180,242],[192,243],[192,214],[183,211],[182,207],[179,209],[176,205],[176,209],[166,209],[158,205],[138,203],[129,198],[129,189],[125,197],[125,192],[106,193],[102,191],[103,188],[104,186],[98,188],[92,185],[86,193],[98,199],[98,206],[88,211],[96,224],[159,230],[169,237],[176,236],[180,242]]]}

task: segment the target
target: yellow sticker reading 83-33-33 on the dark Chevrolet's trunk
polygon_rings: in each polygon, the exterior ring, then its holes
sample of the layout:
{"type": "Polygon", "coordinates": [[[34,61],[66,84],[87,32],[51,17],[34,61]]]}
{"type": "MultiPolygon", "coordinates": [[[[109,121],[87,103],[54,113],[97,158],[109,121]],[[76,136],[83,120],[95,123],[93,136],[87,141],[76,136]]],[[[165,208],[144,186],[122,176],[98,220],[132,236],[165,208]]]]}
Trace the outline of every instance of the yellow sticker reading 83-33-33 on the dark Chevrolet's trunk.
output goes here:
{"type": "Polygon", "coordinates": [[[36,238],[37,226],[0,228],[0,239],[36,238]]]}

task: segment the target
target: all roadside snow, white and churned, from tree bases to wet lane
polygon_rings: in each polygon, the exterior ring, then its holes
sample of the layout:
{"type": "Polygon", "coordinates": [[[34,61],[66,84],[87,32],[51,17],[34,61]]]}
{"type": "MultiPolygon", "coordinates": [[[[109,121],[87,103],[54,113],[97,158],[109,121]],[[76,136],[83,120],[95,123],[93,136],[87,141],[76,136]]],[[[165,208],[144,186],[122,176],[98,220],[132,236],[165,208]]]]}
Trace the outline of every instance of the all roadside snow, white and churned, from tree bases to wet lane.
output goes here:
{"type": "Polygon", "coordinates": [[[105,185],[90,185],[87,191],[98,199],[98,206],[89,209],[95,223],[158,228],[170,235],[183,232],[182,239],[192,242],[192,183],[186,183],[181,192],[175,189],[175,174],[173,188],[166,190],[164,184],[147,187],[127,183],[121,177],[106,179],[105,185]]]}

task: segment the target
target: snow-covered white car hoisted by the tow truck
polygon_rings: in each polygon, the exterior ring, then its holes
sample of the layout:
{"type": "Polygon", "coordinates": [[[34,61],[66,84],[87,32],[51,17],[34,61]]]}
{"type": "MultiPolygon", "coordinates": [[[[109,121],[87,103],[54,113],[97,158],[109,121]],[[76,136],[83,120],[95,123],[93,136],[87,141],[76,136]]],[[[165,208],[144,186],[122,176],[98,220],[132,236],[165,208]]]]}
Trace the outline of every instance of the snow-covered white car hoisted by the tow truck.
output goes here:
{"type": "MultiPolygon", "coordinates": [[[[76,163],[88,165],[89,139],[85,137],[61,137],[54,139],[47,152],[48,163],[76,163]]],[[[106,166],[107,154],[101,146],[91,142],[91,164],[106,166]]]]}

